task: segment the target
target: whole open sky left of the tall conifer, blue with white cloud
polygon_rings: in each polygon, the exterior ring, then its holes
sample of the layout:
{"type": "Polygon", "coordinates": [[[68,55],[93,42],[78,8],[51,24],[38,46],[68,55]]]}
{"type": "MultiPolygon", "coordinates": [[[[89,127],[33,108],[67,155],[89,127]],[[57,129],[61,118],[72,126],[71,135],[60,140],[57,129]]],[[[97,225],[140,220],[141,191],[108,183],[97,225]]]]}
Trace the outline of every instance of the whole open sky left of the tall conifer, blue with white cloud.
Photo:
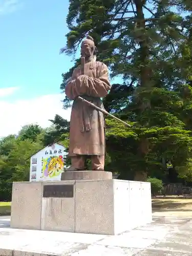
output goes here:
{"type": "Polygon", "coordinates": [[[0,0],[0,137],[28,123],[47,126],[56,113],[69,119],[60,83],[73,62],[59,55],[67,13],[67,0],[0,0]]]}

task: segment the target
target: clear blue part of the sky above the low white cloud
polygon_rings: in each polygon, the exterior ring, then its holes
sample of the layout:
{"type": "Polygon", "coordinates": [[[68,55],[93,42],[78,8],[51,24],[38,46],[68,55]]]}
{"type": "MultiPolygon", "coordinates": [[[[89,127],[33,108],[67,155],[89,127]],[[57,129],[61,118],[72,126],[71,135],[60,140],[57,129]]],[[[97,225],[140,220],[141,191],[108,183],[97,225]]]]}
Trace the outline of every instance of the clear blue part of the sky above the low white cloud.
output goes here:
{"type": "Polygon", "coordinates": [[[72,66],[70,57],[59,55],[68,31],[68,1],[1,2],[10,2],[10,9],[15,3],[15,10],[0,16],[0,88],[22,89],[10,100],[59,93],[61,73],[72,66]]]}

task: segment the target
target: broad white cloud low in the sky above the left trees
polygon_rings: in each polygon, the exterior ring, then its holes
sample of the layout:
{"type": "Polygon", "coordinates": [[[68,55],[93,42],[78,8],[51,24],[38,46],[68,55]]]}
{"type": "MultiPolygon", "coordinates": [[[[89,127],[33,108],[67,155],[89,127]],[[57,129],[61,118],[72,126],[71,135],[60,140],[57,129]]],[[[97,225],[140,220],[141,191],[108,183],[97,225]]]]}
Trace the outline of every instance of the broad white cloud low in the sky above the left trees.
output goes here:
{"type": "Polygon", "coordinates": [[[54,119],[55,114],[70,120],[71,110],[62,109],[63,97],[63,94],[53,94],[14,102],[0,99],[0,137],[15,134],[26,124],[48,127],[49,119],[54,119]]]}

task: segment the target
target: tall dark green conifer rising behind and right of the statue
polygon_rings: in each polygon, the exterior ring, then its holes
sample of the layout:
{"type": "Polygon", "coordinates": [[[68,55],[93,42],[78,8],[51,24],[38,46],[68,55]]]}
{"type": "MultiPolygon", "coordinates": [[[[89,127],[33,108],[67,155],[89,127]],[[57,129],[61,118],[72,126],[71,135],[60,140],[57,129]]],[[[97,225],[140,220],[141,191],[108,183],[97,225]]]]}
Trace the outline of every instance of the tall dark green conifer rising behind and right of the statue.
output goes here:
{"type": "MultiPolygon", "coordinates": [[[[70,32],[61,52],[75,54],[89,34],[111,78],[121,76],[104,99],[106,110],[133,124],[127,129],[106,121],[111,159],[106,169],[118,171],[121,178],[138,172],[162,178],[167,161],[180,176],[191,172],[189,2],[70,0],[70,32]]],[[[78,64],[76,59],[74,67],[78,64]]],[[[64,92],[74,67],[62,74],[64,92]]],[[[63,103],[64,108],[71,104],[67,97],[63,103]]]]}

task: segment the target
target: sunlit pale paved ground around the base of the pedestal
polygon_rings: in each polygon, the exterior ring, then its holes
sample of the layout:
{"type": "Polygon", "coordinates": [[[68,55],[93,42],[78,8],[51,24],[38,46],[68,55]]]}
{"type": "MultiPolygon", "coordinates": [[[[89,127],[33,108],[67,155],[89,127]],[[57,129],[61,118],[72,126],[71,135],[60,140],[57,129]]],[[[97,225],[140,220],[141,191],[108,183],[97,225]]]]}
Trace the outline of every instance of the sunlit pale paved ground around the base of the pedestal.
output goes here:
{"type": "Polygon", "coordinates": [[[154,216],[154,222],[118,236],[9,228],[0,217],[0,255],[191,256],[192,219],[154,216]]]}

